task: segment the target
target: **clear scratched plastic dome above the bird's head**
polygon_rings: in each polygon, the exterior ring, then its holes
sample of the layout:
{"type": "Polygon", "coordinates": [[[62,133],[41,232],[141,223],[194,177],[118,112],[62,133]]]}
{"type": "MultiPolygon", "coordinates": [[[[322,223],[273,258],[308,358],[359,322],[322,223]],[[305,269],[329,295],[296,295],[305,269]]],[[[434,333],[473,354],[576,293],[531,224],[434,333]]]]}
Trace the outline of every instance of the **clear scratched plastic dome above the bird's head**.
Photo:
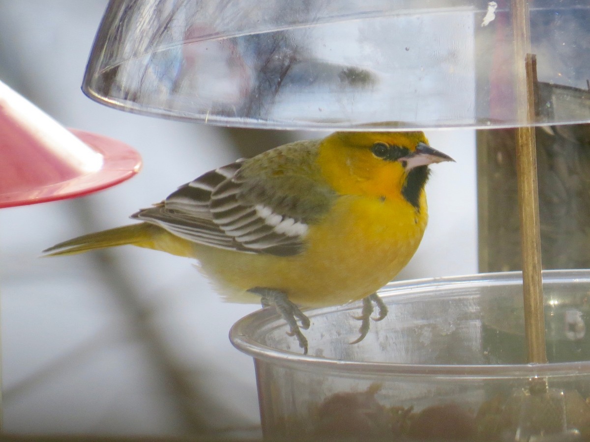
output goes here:
{"type": "Polygon", "coordinates": [[[590,5],[532,2],[537,116],[514,104],[510,4],[112,0],[84,78],[124,110],[275,128],[590,120],[590,5]]]}

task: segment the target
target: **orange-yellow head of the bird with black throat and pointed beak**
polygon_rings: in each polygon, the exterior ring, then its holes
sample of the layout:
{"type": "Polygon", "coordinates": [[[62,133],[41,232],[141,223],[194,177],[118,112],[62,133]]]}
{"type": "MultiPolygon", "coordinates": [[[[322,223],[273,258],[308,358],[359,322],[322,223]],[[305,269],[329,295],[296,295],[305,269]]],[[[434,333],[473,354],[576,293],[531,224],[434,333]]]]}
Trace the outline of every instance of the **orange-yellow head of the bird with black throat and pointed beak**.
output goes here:
{"type": "Polygon", "coordinates": [[[319,161],[339,193],[404,198],[419,209],[428,165],[454,160],[414,131],[336,132],[320,144],[319,161]]]}

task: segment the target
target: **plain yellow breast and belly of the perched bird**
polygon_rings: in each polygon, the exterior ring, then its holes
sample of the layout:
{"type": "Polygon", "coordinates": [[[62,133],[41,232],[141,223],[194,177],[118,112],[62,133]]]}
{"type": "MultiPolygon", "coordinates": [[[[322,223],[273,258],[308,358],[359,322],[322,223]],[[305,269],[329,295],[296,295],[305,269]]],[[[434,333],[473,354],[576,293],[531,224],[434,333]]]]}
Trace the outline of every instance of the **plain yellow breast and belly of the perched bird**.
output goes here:
{"type": "Polygon", "coordinates": [[[345,304],[370,295],[408,263],[427,223],[421,210],[404,199],[341,196],[329,214],[310,226],[306,250],[295,256],[269,256],[196,246],[201,267],[233,302],[253,287],[284,291],[302,306],[345,304]]]}

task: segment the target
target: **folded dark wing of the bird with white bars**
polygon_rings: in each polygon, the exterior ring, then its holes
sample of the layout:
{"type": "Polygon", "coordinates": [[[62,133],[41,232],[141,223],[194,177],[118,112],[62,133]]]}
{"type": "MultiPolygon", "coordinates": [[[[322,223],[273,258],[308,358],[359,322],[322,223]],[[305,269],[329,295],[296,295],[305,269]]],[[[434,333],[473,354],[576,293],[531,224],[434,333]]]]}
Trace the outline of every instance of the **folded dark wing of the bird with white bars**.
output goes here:
{"type": "Polygon", "coordinates": [[[298,186],[318,186],[297,175],[268,179],[244,173],[243,165],[238,160],[212,170],[132,218],[218,248],[278,256],[301,252],[308,222],[327,210],[332,192],[299,192],[298,186]]]}

